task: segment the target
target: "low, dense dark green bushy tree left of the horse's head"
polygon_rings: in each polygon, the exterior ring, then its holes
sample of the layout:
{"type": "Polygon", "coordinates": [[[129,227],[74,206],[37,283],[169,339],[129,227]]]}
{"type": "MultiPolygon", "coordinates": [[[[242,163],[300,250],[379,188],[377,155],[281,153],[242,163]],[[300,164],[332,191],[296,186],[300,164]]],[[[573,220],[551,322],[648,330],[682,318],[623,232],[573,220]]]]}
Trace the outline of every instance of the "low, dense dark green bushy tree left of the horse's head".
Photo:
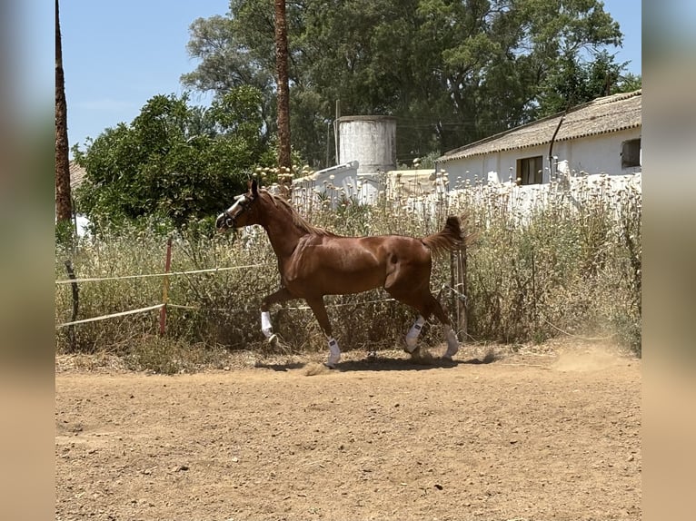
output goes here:
{"type": "Polygon", "coordinates": [[[189,106],[185,94],[154,96],[132,123],[106,129],[85,152],[74,149],[86,170],[78,210],[97,226],[209,218],[266,159],[261,104],[252,86],[234,87],[207,109],[189,106]]]}

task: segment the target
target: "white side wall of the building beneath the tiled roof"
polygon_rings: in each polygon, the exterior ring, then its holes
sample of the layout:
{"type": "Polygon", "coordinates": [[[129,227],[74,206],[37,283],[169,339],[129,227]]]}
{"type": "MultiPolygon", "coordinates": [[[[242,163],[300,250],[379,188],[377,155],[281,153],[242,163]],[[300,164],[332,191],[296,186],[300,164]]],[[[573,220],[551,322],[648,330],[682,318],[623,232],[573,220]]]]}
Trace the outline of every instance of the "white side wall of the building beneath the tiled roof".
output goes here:
{"type": "MultiPolygon", "coordinates": [[[[641,167],[621,169],[621,143],[641,137],[641,129],[630,129],[617,133],[589,136],[582,139],[556,142],[553,144],[553,155],[558,161],[567,160],[571,172],[579,174],[586,172],[622,175],[641,172],[641,167]]],[[[476,155],[448,162],[438,162],[438,172],[445,170],[449,174],[452,188],[459,181],[469,180],[472,184],[478,179],[484,184],[488,180],[488,172],[498,172],[501,182],[517,178],[517,160],[534,156],[542,156],[543,182],[550,181],[549,144],[516,149],[505,152],[495,152],[486,155],[476,155]]]]}

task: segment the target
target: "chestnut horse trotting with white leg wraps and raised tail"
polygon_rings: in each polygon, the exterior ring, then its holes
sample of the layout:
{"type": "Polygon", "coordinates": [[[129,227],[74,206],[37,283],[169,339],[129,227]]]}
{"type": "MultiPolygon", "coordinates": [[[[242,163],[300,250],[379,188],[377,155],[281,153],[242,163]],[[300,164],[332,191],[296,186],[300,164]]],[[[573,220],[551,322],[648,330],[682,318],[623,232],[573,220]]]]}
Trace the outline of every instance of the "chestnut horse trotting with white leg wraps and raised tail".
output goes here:
{"type": "Polygon", "coordinates": [[[452,360],[459,350],[452,322],[430,291],[433,255],[455,251],[467,241],[457,216],[447,218],[442,231],[414,239],[402,235],[343,237],[313,226],[282,197],[260,188],[254,179],[248,191],[218,215],[217,231],[258,224],[266,231],[278,260],[281,288],[261,302],[261,330],[269,342],[273,334],[270,309],[286,300],[303,299],[312,309],[329,347],[324,365],[335,369],[341,349],[333,338],[324,307],[324,295],[360,293],[383,288],[394,300],[418,311],[406,333],[405,350],[413,355],[425,321],[434,315],[444,329],[447,349],[443,359],[452,360]]]}

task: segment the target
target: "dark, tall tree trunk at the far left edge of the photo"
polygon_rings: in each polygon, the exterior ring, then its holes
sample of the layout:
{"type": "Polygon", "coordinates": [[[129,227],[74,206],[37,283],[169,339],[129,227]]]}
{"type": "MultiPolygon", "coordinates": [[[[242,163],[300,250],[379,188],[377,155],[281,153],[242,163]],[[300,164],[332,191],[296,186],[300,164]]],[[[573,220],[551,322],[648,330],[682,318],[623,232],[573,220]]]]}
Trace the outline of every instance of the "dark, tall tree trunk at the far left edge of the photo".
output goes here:
{"type": "Polygon", "coordinates": [[[68,152],[63,46],[58,18],[58,0],[55,0],[55,219],[58,222],[70,221],[73,216],[68,152]]]}

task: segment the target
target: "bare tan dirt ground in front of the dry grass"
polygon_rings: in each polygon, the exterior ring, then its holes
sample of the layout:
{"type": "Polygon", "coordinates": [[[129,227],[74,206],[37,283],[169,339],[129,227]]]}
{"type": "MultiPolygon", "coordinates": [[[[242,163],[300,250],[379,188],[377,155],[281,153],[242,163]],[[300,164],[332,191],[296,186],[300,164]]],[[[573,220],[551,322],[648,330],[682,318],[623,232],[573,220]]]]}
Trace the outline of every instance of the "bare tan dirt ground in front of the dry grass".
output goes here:
{"type": "Polygon", "coordinates": [[[170,377],[56,358],[55,519],[641,518],[640,359],[322,357],[170,377]]]}

